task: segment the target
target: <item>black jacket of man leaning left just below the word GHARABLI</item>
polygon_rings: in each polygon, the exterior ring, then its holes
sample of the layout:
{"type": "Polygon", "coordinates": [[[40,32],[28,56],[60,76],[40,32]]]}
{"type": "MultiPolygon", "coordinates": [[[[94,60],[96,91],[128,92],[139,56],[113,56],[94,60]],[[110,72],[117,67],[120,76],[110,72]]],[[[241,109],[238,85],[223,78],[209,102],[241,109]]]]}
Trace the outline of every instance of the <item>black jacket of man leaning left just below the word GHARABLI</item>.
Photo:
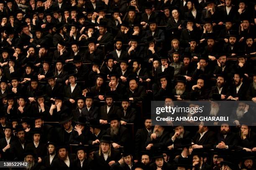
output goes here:
{"type": "Polygon", "coordinates": [[[202,145],[204,149],[212,149],[213,145],[216,143],[215,133],[209,130],[200,140],[199,139],[200,133],[197,133],[193,141],[197,145],[202,145]]]}

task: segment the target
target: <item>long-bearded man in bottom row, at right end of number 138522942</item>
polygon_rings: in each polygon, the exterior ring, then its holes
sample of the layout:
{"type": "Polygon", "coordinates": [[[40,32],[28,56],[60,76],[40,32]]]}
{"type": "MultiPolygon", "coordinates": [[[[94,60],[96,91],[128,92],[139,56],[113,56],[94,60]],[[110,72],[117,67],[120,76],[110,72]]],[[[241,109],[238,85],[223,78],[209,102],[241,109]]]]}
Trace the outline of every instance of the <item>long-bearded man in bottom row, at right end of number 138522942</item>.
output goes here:
{"type": "Polygon", "coordinates": [[[23,156],[24,163],[28,165],[25,170],[38,170],[40,168],[40,165],[36,163],[37,155],[33,153],[33,150],[26,150],[23,156]]]}

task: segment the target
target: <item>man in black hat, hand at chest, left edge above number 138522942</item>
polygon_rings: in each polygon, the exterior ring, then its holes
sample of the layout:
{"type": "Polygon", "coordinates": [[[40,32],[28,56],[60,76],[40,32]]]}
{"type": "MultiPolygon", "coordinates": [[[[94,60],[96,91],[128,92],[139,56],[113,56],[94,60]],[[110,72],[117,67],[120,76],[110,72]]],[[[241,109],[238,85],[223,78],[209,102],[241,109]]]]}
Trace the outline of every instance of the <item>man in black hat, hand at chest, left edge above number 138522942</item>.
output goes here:
{"type": "Polygon", "coordinates": [[[15,158],[15,146],[17,140],[12,135],[13,133],[13,125],[7,123],[4,128],[5,137],[0,139],[0,152],[3,157],[3,160],[10,161],[15,158]]]}

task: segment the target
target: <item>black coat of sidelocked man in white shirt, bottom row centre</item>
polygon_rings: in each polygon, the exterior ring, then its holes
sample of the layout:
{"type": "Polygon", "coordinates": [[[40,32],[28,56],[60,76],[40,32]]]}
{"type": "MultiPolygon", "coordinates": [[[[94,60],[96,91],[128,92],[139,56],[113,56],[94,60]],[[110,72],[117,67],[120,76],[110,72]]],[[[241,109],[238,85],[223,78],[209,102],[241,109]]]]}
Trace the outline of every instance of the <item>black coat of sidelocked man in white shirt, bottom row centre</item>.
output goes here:
{"type": "Polygon", "coordinates": [[[118,162],[120,158],[121,155],[119,150],[111,149],[111,155],[107,160],[104,159],[103,153],[99,155],[99,151],[97,150],[93,153],[93,170],[110,170],[111,167],[108,165],[108,163],[112,160],[118,162]]]}

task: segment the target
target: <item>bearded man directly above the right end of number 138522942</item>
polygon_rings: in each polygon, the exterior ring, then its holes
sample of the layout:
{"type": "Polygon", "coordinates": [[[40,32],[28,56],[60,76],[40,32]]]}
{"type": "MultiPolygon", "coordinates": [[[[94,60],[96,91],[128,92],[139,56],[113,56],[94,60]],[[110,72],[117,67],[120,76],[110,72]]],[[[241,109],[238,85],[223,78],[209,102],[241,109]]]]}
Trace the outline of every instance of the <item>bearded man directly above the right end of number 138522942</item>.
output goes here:
{"type": "Polygon", "coordinates": [[[18,142],[15,145],[15,150],[16,150],[16,157],[18,159],[18,161],[22,161],[23,160],[23,154],[27,148],[27,144],[28,142],[26,141],[25,135],[26,135],[26,131],[23,128],[22,125],[18,125],[15,127],[16,130],[16,136],[18,137],[18,142]]]}

